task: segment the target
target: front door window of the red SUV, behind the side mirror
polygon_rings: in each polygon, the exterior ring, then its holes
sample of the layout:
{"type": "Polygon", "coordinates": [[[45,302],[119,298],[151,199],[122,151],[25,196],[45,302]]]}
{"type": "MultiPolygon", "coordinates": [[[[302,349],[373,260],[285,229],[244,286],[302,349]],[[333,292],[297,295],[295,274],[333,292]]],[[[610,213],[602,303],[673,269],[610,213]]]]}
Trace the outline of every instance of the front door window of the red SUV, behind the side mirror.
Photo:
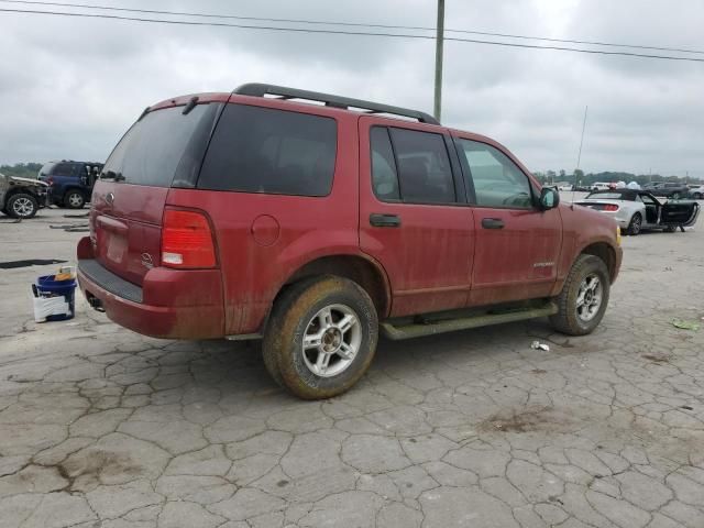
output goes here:
{"type": "Polygon", "coordinates": [[[532,208],[528,177],[506,154],[476,141],[458,140],[458,143],[469,165],[479,206],[532,208]]]}

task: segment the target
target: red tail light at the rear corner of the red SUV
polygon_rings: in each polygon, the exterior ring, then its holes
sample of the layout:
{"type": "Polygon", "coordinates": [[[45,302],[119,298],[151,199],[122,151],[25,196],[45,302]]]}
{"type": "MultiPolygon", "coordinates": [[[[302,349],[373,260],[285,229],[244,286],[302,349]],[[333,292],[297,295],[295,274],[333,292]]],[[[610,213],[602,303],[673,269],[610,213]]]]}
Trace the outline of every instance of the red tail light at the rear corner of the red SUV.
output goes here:
{"type": "Polygon", "coordinates": [[[164,211],[162,265],[176,268],[216,265],[212,232],[205,215],[177,209],[164,211]]]}

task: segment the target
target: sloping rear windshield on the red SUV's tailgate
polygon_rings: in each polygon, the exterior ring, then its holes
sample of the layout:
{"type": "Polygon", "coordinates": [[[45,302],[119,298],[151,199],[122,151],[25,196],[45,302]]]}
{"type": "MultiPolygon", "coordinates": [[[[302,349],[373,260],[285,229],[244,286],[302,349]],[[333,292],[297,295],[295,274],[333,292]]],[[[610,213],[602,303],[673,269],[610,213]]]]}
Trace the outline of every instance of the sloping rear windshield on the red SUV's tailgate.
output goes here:
{"type": "Polygon", "coordinates": [[[194,187],[219,105],[148,112],[124,134],[102,179],[152,187],[194,187]]]}

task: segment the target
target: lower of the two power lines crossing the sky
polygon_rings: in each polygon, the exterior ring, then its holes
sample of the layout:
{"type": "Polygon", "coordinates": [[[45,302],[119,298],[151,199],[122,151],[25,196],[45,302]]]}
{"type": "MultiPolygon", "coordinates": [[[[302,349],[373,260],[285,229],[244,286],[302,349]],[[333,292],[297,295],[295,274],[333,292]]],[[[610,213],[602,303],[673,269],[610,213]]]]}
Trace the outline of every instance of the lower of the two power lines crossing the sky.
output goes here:
{"type": "MultiPolygon", "coordinates": [[[[3,1],[3,0],[0,0],[0,1],[3,1]]],[[[232,23],[226,23],[226,22],[194,22],[194,21],[186,21],[186,20],[146,19],[141,16],[119,16],[114,14],[95,14],[95,13],[68,13],[68,12],[59,12],[59,11],[38,11],[38,10],[29,10],[29,9],[22,10],[22,9],[0,8],[0,12],[21,13],[21,14],[45,14],[45,15],[52,15],[52,16],[72,16],[72,18],[84,18],[84,19],[107,19],[107,20],[146,22],[146,23],[156,23],[156,24],[173,24],[173,25],[238,28],[242,30],[261,30],[261,31],[285,31],[285,32],[293,32],[293,33],[383,36],[383,37],[389,37],[389,38],[416,38],[416,40],[425,40],[425,41],[435,41],[436,38],[435,36],[430,36],[430,35],[413,35],[413,34],[404,34],[404,33],[381,33],[381,32],[343,31],[343,30],[311,30],[311,29],[302,29],[302,28],[282,28],[282,26],[274,26],[274,25],[232,24],[232,23]]],[[[612,56],[624,56],[624,57],[654,58],[660,61],[681,61],[681,62],[691,62],[691,63],[704,63],[704,58],[676,57],[671,55],[652,55],[652,54],[642,54],[642,53],[632,53],[632,52],[607,52],[604,50],[582,50],[576,47],[563,47],[563,46],[539,46],[536,44],[518,44],[515,42],[483,41],[479,38],[459,38],[459,37],[451,37],[451,36],[446,36],[444,40],[452,41],[452,42],[486,44],[486,45],[505,46],[505,47],[520,47],[520,48],[529,48],[529,50],[552,50],[552,51],[559,51],[559,52],[588,53],[592,55],[612,55],[612,56]]]]}

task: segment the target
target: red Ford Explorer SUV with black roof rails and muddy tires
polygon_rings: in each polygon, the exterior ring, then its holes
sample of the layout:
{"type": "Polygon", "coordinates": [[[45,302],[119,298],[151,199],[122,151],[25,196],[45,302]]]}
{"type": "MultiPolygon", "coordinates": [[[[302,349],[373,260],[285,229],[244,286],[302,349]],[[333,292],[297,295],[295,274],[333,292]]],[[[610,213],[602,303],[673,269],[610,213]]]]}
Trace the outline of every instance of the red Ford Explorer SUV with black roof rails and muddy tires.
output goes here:
{"type": "Polygon", "coordinates": [[[168,99],[96,184],[78,279],[136,332],[263,338],[304,398],[405,339],[549,316],[591,332],[618,273],[610,218],[559,205],[488,138],[277,86],[168,99]],[[311,103],[317,102],[317,103],[311,103]]]}

